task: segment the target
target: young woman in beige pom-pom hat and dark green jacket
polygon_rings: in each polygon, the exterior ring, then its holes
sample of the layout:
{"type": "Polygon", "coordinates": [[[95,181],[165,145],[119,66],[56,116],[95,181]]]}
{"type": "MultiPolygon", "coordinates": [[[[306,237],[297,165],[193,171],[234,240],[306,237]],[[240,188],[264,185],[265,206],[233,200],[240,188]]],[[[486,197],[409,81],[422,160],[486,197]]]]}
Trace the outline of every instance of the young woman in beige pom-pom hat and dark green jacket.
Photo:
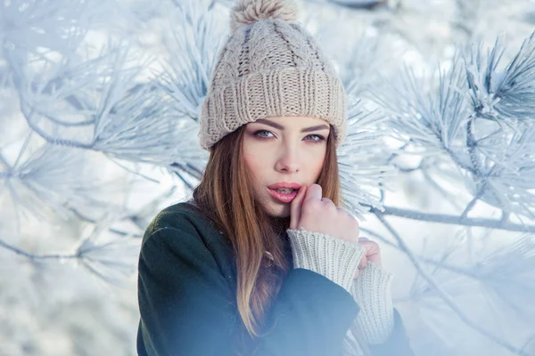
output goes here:
{"type": "Polygon", "coordinates": [[[342,207],[344,91],[282,0],[241,0],[202,105],[210,159],[139,257],[140,355],[412,355],[342,207]]]}

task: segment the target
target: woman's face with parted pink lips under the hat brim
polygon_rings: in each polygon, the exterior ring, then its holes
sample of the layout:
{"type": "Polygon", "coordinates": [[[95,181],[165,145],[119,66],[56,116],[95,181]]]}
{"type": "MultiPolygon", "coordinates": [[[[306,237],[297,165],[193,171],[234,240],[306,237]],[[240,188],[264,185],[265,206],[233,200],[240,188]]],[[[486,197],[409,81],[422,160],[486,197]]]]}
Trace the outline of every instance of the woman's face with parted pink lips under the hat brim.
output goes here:
{"type": "Polygon", "coordinates": [[[254,197],[270,216],[290,216],[291,202],[275,198],[268,186],[288,182],[308,187],[317,181],[330,129],[316,117],[266,117],[246,125],[243,158],[254,197]]]}

